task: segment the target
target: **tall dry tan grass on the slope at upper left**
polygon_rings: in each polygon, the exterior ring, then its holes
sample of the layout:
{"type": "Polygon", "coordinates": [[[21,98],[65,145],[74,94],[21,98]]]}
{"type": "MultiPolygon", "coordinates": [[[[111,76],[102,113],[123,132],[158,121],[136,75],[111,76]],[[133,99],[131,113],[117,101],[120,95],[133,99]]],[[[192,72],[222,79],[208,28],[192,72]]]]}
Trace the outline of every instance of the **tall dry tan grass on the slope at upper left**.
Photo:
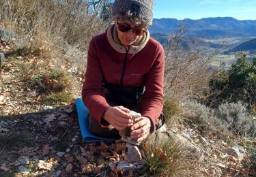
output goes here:
{"type": "Polygon", "coordinates": [[[106,27],[98,18],[102,4],[102,0],[0,1],[0,27],[14,31],[23,39],[25,46],[21,46],[32,48],[45,59],[76,62],[68,54],[70,49],[86,51],[91,37],[106,27]]]}

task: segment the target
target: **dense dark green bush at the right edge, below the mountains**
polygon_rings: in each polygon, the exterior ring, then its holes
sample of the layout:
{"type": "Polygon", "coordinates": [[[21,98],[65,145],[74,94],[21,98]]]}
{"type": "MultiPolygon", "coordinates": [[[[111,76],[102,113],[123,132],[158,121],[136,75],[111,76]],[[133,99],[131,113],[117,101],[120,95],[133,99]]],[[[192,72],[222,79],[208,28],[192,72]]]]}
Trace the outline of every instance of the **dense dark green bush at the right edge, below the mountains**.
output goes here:
{"type": "Polygon", "coordinates": [[[231,65],[229,71],[219,71],[209,81],[210,99],[214,98],[214,106],[225,101],[256,104],[256,57],[250,63],[246,54],[236,54],[237,62],[231,65]]]}

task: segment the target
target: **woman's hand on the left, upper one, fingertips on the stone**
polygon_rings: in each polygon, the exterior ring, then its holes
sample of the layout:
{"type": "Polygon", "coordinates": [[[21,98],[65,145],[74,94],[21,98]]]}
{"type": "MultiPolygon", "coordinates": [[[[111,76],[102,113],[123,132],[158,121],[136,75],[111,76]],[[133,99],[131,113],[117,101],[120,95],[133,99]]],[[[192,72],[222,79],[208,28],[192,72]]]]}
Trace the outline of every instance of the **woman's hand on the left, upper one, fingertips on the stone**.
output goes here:
{"type": "Polygon", "coordinates": [[[126,127],[133,125],[132,116],[128,114],[129,111],[123,106],[114,106],[106,110],[103,118],[118,131],[123,131],[126,127]]]}

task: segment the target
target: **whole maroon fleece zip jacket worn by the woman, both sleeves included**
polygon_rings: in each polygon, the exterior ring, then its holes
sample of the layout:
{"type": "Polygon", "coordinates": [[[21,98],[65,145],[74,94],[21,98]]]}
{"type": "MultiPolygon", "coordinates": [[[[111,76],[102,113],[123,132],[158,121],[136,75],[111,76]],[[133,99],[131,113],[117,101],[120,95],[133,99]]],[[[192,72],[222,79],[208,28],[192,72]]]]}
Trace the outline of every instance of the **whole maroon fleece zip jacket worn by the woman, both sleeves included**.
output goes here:
{"type": "Polygon", "coordinates": [[[164,67],[164,50],[152,37],[136,54],[123,54],[109,44],[106,33],[97,35],[89,44],[83,102],[91,116],[102,125],[101,118],[111,107],[102,91],[102,82],[145,86],[141,115],[149,117],[155,126],[162,112],[164,67]]]}

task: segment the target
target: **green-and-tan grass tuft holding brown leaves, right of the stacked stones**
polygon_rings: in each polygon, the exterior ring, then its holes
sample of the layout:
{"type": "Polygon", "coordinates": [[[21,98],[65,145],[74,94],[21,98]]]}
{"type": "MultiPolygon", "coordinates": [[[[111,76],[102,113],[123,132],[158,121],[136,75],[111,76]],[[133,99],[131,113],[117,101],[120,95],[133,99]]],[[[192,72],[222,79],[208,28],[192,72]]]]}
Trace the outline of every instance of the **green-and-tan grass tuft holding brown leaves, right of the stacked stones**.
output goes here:
{"type": "Polygon", "coordinates": [[[187,151],[174,140],[143,144],[147,161],[141,176],[179,176],[188,167],[187,151]]]}

